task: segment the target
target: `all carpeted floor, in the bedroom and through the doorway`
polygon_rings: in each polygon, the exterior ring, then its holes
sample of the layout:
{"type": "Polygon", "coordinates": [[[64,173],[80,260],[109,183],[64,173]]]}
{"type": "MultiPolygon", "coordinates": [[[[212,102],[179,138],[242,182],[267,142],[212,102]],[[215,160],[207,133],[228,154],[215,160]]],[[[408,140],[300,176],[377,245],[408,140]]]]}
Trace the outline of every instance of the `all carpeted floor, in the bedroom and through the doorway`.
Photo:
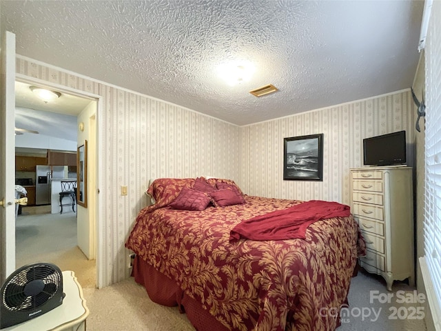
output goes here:
{"type": "MultiPolygon", "coordinates": [[[[96,289],[95,261],[88,261],[76,246],[74,213],[21,215],[17,218],[16,229],[17,268],[27,263],[46,261],[58,265],[61,270],[75,272],[90,310],[88,331],[194,330],[178,308],[153,303],[145,289],[132,277],[101,290],[96,289]]],[[[424,321],[419,319],[421,314],[415,314],[421,312],[419,307],[422,304],[400,303],[399,294],[413,296],[413,290],[407,283],[395,282],[391,292],[393,297],[389,302],[382,302],[379,299],[389,293],[384,279],[361,270],[351,280],[349,308],[337,331],[426,330],[424,321]]]]}

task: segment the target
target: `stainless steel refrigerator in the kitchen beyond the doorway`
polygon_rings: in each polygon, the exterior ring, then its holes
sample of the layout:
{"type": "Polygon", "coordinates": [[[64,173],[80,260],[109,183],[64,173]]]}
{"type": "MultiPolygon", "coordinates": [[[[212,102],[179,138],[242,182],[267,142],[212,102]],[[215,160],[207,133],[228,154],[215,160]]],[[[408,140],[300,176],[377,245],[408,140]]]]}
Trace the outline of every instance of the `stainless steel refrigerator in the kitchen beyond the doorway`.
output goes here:
{"type": "Polygon", "coordinates": [[[35,204],[50,204],[50,180],[65,177],[65,165],[37,165],[35,179],[35,204]],[[52,168],[52,169],[51,169],[52,168]]]}

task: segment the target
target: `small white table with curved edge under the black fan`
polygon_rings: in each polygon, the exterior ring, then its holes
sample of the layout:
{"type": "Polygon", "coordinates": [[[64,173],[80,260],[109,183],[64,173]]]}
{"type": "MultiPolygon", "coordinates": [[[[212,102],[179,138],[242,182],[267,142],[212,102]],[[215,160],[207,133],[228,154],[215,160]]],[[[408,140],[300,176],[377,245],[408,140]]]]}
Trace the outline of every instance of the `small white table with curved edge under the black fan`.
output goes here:
{"type": "Polygon", "coordinates": [[[73,271],[63,271],[63,292],[66,296],[57,308],[1,331],[85,331],[89,309],[85,305],[83,289],[73,271]]]}

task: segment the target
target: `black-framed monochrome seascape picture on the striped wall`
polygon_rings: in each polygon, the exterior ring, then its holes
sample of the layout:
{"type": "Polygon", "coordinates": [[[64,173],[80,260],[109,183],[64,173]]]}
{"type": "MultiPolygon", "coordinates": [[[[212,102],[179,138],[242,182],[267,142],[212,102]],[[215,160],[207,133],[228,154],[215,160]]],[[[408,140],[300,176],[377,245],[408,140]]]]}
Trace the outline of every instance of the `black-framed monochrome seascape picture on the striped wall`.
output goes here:
{"type": "Polygon", "coordinates": [[[323,134],[283,141],[283,180],[323,181],[323,134]]]}

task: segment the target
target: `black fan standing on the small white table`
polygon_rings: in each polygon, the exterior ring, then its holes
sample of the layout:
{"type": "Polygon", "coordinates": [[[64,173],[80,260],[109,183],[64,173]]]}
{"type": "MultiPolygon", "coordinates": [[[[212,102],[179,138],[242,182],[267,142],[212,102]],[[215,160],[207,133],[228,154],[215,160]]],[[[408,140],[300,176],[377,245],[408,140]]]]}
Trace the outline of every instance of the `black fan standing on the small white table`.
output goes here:
{"type": "Polygon", "coordinates": [[[63,274],[57,265],[24,265],[1,286],[0,328],[39,317],[61,305],[64,297],[63,274]]]}

